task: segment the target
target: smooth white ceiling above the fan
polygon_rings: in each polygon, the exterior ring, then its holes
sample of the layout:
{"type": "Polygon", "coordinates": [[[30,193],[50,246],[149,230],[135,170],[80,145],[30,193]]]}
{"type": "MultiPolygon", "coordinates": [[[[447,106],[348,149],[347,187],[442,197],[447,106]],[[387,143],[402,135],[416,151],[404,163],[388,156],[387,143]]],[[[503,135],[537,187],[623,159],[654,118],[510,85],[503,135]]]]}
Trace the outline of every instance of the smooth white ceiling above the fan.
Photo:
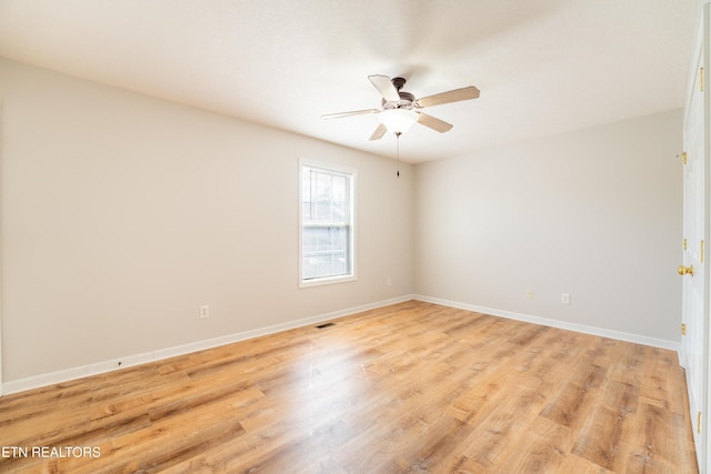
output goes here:
{"type": "Polygon", "coordinates": [[[393,157],[370,74],[427,109],[410,162],[680,108],[697,0],[0,0],[0,56],[393,157]]]}

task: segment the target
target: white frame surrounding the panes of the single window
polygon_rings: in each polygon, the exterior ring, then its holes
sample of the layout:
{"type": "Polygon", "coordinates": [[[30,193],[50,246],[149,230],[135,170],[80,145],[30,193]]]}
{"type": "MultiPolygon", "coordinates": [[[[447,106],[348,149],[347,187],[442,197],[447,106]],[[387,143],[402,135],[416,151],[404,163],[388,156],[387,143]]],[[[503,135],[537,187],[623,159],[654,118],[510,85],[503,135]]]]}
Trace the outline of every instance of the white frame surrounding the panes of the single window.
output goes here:
{"type": "Polygon", "coordinates": [[[299,288],[320,286],[333,283],[344,283],[358,280],[357,264],[356,264],[356,184],[357,173],[356,170],[350,168],[343,168],[331,163],[318,162],[312,160],[299,159],[299,288]],[[312,279],[303,278],[303,173],[307,169],[320,170],[326,173],[341,174],[348,179],[348,200],[349,200],[349,220],[347,228],[348,233],[348,259],[350,271],[347,274],[317,276],[312,279]]]}

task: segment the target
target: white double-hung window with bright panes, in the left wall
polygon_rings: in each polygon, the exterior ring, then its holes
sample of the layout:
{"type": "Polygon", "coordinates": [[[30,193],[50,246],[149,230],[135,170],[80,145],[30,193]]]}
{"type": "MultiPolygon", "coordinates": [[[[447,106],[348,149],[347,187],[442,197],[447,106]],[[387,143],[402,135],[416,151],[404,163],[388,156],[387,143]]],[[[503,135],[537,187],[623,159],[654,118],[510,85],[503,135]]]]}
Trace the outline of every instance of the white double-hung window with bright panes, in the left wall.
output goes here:
{"type": "Polygon", "coordinates": [[[354,173],[301,162],[301,286],[356,279],[354,173]]]}

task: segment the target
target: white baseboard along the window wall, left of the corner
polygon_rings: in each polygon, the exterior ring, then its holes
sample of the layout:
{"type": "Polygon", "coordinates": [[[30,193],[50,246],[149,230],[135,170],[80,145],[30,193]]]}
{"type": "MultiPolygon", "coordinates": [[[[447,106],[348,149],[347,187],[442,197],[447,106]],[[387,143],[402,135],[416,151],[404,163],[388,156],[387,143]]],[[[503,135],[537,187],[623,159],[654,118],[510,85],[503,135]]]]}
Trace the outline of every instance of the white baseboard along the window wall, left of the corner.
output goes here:
{"type": "Polygon", "coordinates": [[[173,347],[166,347],[166,349],[159,349],[152,352],[144,352],[142,354],[128,355],[124,357],[113,359],[110,361],[102,361],[102,362],[97,362],[88,365],[66,369],[57,372],[34,375],[27,379],[19,379],[16,381],[4,382],[1,386],[2,390],[0,390],[0,395],[8,395],[11,393],[24,392],[27,390],[39,389],[42,386],[68,382],[71,380],[81,379],[90,375],[98,375],[98,374],[102,374],[102,373],[107,373],[116,370],[121,370],[121,369],[126,369],[134,365],[144,364],[148,362],[160,361],[163,359],[174,357],[177,355],[189,354],[191,352],[203,351],[206,349],[212,349],[220,345],[231,344],[234,342],[247,341],[249,339],[273,334],[281,331],[288,331],[296,327],[308,326],[308,325],[321,323],[328,320],[333,320],[336,317],[348,316],[350,314],[361,313],[363,311],[369,311],[369,310],[374,310],[382,306],[388,306],[391,304],[402,303],[404,301],[410,301],[413,299],[414,297],[412,295],[394,297],[390,300],[380,301],[377,303],[364,304],[361,306],[333,311],[330,313],[319,314],[311,317],[303,317],[296,321],[289,321],[287,323],[273,324],[266,327],[243,331],[236,334],[228,334],[228,335],[213,337],[204,341],[196,341],[189,344],[182,344],[173,347]]]}

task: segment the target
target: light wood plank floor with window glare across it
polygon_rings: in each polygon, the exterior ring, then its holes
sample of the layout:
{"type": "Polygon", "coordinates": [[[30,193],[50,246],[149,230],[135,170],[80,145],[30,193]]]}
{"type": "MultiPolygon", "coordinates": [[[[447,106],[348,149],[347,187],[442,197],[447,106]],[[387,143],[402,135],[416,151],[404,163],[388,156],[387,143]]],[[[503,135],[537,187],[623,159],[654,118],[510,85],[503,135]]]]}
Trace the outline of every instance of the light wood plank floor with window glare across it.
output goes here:
{"type": "Polygon", "coordinates": [[[697,472],[673,352],[414,301],[334,323],[7,395],[0,472],[697,472]]]}

